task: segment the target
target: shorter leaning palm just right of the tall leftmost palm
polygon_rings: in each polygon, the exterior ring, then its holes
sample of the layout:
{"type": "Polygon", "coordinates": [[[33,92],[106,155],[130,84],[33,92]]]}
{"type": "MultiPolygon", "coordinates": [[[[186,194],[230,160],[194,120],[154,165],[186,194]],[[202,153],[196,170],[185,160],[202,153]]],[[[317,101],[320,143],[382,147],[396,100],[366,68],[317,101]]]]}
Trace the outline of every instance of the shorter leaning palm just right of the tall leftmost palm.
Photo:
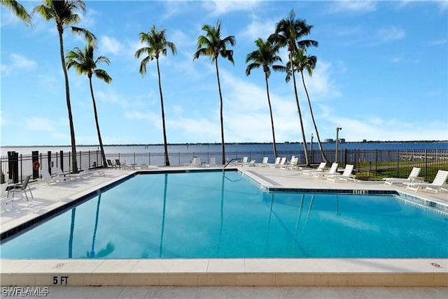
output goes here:
{"type": "Polygon", "coordinates": [[[98,69],[97,64],[104,62],[107,65],[109,65],[111,61],[109,61],[109,59],[104,56],[99,56],[97,57],[97,59],[94,59],[93,52],[94,48],[92,47],[92,45],[85,46],[84,50],[80,50],[80,48],[75,48],[74,50],[69,51],[69,53],[66,56],[67,69],[73,66],[79,75],[87,75],[87,77],[89,78],[90,94],[92,95],[92,102],[93,102],[93,112],[95,116],[95,122],[97,124],[99,148],[101,149],[103,166],[107,167],[106,154],[104,154],[103,141],[101,138],[101,133],[99,132],[97,104],[95,103],[92,87],[92,75],[95,75],[95,77],[97,77],[99,80],[103,80],[104,82],[109,84],[112,81],[111,76],[109,76],[109,74],[106,71],[98,69]]]}

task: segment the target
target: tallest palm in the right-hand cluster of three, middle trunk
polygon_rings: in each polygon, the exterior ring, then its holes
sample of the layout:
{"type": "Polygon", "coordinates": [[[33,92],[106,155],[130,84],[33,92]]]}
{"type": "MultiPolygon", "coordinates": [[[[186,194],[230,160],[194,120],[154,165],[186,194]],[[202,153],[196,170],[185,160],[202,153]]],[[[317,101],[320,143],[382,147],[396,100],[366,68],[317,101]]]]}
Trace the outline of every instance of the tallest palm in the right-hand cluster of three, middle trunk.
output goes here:
{"type": "MultiPolygon", "coordinates": [[[[295,18],[294,10],[290,11],[287,19],[281,19],[277,24],[274,34],[271,34],[268,40],[272,43],[278,44],[280,47],[288,47],[289,60],[293,61],[293,53],[297,48],[306,48],[309,46],[317,46],[317,41],[302,40],[303,36],[309,35],[312,25],[307,24],[306,20],[295,18]]],[[[307,150],[307,140],[303,128],[302,112],[300,111],[299,96],[297,95],[297,85],[295,83],[294,64],[291,64],[291,73],[293,75],[295,103],[297,104],[297,112],[299,113],[300,129],[302,130],[303,149],[305,156],[305,163],[309,166],[309,156],[307,150]]]]}

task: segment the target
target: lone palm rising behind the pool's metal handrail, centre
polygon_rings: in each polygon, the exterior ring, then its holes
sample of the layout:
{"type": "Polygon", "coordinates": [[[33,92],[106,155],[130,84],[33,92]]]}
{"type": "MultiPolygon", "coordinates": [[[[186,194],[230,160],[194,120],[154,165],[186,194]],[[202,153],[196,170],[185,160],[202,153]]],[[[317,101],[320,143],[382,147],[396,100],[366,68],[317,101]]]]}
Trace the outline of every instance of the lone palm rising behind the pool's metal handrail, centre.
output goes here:
{"type": "Polygon", "coordinates": [[[218,78],[218,91],[219,99],[221,101],[220,117],[221,117],[221,144],[223,147],[223,164],[225,164],[225,145],[224,145],[224,123],[223,123],[223,95],[221,94],[221,82],[219,81],[218,71],[218,57],[228,59],[232,64],[233,51],[227,50],[228,44],[235,45],[235,36],[227,36],[221,39],[221,21],[216,22],[216,26],[210,26],[205,24],[202,26],[202,30],[206,32],[205,36],[197,37],[197,51],[193,54],[193,60],[198,59],[200,56],[209,56],[211,62],[216,66],[216,78],[218,78]]]}

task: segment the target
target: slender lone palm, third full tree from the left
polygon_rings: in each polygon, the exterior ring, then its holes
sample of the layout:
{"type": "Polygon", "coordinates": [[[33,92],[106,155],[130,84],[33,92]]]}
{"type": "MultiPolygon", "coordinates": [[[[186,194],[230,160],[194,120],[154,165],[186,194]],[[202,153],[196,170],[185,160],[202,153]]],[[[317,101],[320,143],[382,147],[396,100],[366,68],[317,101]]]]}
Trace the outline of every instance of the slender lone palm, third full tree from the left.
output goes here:
{"type": "Polygon", "coordinates": [[[144,48],[140,48],[135,52],[135,58],[139,58],[143,54],[147,54],[140,64],[140,73],[141,75],[146,74],[146,64],[148,61],[155,59],[157,61],[157,73],[159,78],[159,92],[160,92],[160,105],[162,106],[162,126],[163,126],[163,143],[165,147],[165,166],[169,166],[168,159],[168,145],[167,145],[167,130],[165,128],[165,109],[163,108],[163,96],[162,96],[162,84],[160,82],[160,66],[159,66],[159,57],[160,55],[167,56],[167,48],[171,50],[171,52],[176,54],[176,46],[174,43],[167,41],[165,37],[165,29],[158,31],[155,29],[155,26],[151,28],[147,34],[144,32],[140,33],[140,41],[141,43],[146,43],[148,46],[144,48]]]}

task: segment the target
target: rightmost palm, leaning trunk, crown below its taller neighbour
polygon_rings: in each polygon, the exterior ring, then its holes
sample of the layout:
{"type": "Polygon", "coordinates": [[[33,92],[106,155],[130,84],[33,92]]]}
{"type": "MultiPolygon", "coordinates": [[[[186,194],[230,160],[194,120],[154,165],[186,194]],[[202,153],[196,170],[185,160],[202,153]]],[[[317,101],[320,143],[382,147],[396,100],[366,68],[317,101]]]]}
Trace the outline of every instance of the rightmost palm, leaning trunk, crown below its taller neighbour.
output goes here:
{"type": "MultiPolygon", "coordinates": [[[[305,48],[297,49],[297,52],[295,52],[293,55],[293,64],[295,64],[295,68],[302,75],[302,83],[303,83],[303,87],[305,89],[305,93],[307,94],[307,99],[308,99],[308,104],[309,104],[309,112],[311,113],[311,119],[313,119],[314,130],[316,130],[317,142],[318,142],[319,149],[321,150],[322,161],[325,161],[328,163],[328,159],[325,156],[325,152],[323,152],[321,138],[319,137],[316,120],[314,119],[313,108],[311,107],[311,101],[309,100],[308,89],[307,89],[307,85],[305,85],[305,79],[304,79],[304,75],[303,75],[303,71],[306,70],[308,72],[308,75],[311,77],[311,75],[313,75],[313,70],[316,67],[316,63],[317,63],[317,57],[316,56],[308,56],[307,49],[305,49],[305,48]]],[[[288,69],[292,69],[290,67],[290,61],[288,61],[288,64],[286,67],[288,69]]],[[[286,75],[286,81],[288,82],[288,80],[290,80],[290,72],[288,72],[286,75]]]]}

